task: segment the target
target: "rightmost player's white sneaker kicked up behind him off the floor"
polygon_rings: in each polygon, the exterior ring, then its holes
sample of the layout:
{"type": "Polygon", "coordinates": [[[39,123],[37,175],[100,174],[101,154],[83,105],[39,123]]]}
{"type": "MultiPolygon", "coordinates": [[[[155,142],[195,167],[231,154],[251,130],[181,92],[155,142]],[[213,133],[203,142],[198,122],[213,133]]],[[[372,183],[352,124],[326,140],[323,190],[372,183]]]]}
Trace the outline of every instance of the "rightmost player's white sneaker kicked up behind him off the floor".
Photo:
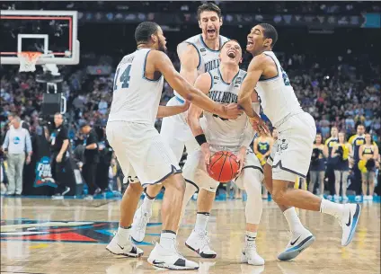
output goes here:
{"type": "Polygon", "coordinates": [[[339,225],[342,228],[341,245],[347,246],[353,239],[353,235],[356,232],[356,227],[359,223],[359,215],[361,213],[361,207],[359,204],[345,204],[344,213],[339,219],[339,225]]]}

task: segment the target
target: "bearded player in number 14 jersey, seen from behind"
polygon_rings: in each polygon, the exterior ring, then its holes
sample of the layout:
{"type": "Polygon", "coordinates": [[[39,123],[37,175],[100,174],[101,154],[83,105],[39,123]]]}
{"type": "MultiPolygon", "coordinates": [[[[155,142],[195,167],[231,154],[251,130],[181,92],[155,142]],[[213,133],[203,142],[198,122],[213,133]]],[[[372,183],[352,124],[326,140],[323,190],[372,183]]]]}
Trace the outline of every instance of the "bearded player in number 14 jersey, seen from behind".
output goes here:
{"type": "Polygon", "coordinates": [[[163,231],[160,243],[148,257],[158,268],[195,270],[196,262],[188,261],[176,250],[185,182],[182,171],[169,146],[155,129],[164,78],[189,102],[216,112],[226,119],[235,119],[241,113],[236,104],[223,106],[208,99],[194,88],[173,67],[162,52],[165,38],[155,22],[142,22],[135,31],[137,50],[120,61],[115,74],[111,112],[106,128],[108,140],[118,157],[123,173],[136,172],[140,184],[130,183],[120,205],[120,226],[107,245],[115,254],[139,257],[143,251],[132,243],[131,224],[143,187],[161,183],[165,187],[162,206],[163,231]]]}

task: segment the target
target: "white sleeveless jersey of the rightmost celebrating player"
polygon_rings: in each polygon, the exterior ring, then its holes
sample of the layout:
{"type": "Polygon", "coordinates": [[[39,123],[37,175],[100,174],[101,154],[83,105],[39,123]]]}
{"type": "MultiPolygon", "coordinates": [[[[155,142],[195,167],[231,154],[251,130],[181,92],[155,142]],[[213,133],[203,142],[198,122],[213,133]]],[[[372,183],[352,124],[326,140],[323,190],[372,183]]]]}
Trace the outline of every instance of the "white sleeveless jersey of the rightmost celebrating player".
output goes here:
{"type": "Polygon", "coordinates": [[[264,114],[270,119],[273,126],[284,119],[288,114],[302,110],[297,101],[294,89],[289,83],[288,75],[280,66],[278,58],[272,51],[264,51],[265,55],[271,57],[278,68],[278,75],[270,79],[261,79],[255,87],[261,98],[261,107],[264,114]]]}

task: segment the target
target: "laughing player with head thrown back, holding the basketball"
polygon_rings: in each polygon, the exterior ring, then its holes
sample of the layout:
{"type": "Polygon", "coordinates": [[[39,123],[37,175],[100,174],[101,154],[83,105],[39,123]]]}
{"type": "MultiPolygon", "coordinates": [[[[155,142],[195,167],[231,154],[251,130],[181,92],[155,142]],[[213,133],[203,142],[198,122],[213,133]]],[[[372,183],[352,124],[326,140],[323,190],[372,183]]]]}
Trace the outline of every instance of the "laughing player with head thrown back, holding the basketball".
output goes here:
{"type": "MultiPolygon", "coordinates": [[[[208,97],[215,102],[221,104],[236,102],[240,86],[246,75],[246,72],[239,69],[242,61],[242,49],[236,40],[230,40],[223,46],[219,56],[221,60],[219,68],[199,75],[195,87],[208,94],[208,97]]],[[[260,103],[255,93],[253,93],[253,101],[252,107],[259,112],[260,103]]],[[[263,172],[260,161],[250,148],[254,131],[247,116],[241,115],[235,120],[222,119],[191,104],[188,111],[188,123],[193,136],[199,143],[199,148],[188,156],[183,167],[183,175],[188,183],[182,203],[182,214],[196,190],[199,190],[199,193],[201,190],[206,190],[213,194],[217,190],[219,182],[209,177],[206,168],[210,156],[217,151],[230,151],[237,155],[237,162],[240,164],[239,172],[242,172],[236,178],[235,184],[247,192],[246,235],[242,261],[253,265],[263,265],[264,260],[257,253],[255,244],[262,212],[261,181],[263,172]],[[202,113],[203,118],[200,119],[202,113]]],[[[200,195],[198,196],[198,217],[194,230],[185,245],[203,258],[215,258],[217,253],[210,249],[207,234],[208,217],[215,195],[207,195],[203,199],[200,195]]]]}

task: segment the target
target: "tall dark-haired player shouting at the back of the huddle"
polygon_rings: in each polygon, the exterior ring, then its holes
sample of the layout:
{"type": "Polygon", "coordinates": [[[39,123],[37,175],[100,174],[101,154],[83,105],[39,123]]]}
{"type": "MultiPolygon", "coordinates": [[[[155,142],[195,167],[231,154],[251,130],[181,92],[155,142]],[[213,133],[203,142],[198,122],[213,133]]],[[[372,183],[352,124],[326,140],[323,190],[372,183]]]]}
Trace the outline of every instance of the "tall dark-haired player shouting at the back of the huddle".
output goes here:
{"type": "MultiPolygon", "coordinates": [[[[198,75],[219,66],[218,55],[220,48],[228,40],[226,37],[219,35],[222,26],[222,14],[216,4],[201,4],[197,14],[201,34],[190,37],[190,39],[183,41],[177,47],[177,53],[182,63],[180,75],[188,80],[190,84],[194,84],[198,75]]],[[[167,103],[167,106],[179,106],[184,103],[184,99],[179,93],[174,92],[174,94],[175,96],[167,103]]],[[[160,131],[160,135],[172,148],[178,162],[182,158],[184,146],[186,146],[188,154],[198,147],[185,118],[186,113],[164,118],[160,131]]],[[[134,178],[134,175],[129,179],[138,180],[134,178]]],[[[146,224],[152,215],[153,202],[161,189],[161,185],[146,188],[146,197],[140,208],[137,209],[132,225],[132,237],[137,242],[142,242],[144,239],[146,224]]],[[[205,196],[205,191],[201,190],[199,195],[201,197],[205,196]]],[[[210,195],[214,196],[215,192],[210,195]]]]}

